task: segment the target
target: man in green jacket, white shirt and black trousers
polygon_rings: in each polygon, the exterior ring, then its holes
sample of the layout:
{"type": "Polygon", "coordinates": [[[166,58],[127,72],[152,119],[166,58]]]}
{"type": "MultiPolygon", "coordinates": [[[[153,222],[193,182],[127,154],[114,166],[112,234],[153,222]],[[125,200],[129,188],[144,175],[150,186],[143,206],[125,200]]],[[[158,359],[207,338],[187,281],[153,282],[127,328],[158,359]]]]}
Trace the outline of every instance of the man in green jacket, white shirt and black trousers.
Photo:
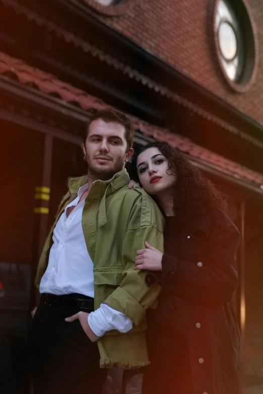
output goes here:
{"type": "Polygon", "coordinates": [[[132,144],[125,114],[91,118],[88,177],[69,180],[39,261],[28,341],[35,394],[96,394],[108,367],[149,364],[145,312],[160,287],[146,285],[135,257],[146,241],[163,250],[164,221],[144,191],[128,190],[132,144]]]}

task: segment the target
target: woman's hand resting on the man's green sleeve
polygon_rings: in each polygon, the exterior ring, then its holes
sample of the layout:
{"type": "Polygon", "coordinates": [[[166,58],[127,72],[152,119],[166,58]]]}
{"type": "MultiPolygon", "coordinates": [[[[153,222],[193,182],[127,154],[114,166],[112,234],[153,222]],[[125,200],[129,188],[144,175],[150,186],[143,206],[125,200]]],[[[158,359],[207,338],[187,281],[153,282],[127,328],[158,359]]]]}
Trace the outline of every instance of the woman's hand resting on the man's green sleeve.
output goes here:
{"type": "Polygon", "coordinates": [[[136,270],[162,271],[163,253],[145,242],[146,249],[137,251],[135,258],[136,270]]]}

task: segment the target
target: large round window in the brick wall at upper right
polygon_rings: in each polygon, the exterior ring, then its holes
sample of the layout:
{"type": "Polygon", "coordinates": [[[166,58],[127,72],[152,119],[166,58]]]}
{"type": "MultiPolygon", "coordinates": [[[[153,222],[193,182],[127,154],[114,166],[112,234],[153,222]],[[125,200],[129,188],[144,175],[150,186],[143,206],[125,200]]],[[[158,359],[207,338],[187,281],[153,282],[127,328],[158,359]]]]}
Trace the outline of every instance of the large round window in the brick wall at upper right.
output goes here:
{"type": "Polygon", "coordinates": [[[231,86],[244,91],[255,68],[254,34],[247,9],[242,0],[218,0],[215,12],[214,30],[221,68],[231,86]]]}

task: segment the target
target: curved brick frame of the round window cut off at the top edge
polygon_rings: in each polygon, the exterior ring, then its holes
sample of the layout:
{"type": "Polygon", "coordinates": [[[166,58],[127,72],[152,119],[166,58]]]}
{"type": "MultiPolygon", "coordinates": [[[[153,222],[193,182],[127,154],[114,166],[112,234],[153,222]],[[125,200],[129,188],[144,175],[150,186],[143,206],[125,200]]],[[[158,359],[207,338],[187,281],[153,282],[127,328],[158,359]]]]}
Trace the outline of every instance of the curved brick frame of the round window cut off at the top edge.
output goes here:
{"type": "Polygon", "coordinates": [[[122,14],[126,14],[139,0],[123,0],[119,4],[113,4],[112,6],[103,6],[103,4],[97,3],[96,0],[79,0],[82,4],[89,6],[98,14],[106,15],[108,17],[115,17],[122,14]]]}

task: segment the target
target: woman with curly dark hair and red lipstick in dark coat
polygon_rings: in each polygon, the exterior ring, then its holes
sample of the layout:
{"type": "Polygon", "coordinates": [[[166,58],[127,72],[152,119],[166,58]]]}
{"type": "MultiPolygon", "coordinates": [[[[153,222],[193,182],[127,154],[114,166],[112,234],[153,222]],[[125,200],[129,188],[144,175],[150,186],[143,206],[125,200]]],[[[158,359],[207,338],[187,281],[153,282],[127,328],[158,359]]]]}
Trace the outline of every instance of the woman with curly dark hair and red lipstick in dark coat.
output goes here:
{"type": "MultiPolygon", "coordinates": [[[[233,294],[239,232],[226,202],[198,169],[166,142],[134,157],[133,176],[165,217],[165,253],[137,252],[149,286],[162,286],[148,311],[151,365],[143,394],[238,394],[240,334],[233,294]]],[[[132,187],[133,183],[129,187],[132,187]]]]}

